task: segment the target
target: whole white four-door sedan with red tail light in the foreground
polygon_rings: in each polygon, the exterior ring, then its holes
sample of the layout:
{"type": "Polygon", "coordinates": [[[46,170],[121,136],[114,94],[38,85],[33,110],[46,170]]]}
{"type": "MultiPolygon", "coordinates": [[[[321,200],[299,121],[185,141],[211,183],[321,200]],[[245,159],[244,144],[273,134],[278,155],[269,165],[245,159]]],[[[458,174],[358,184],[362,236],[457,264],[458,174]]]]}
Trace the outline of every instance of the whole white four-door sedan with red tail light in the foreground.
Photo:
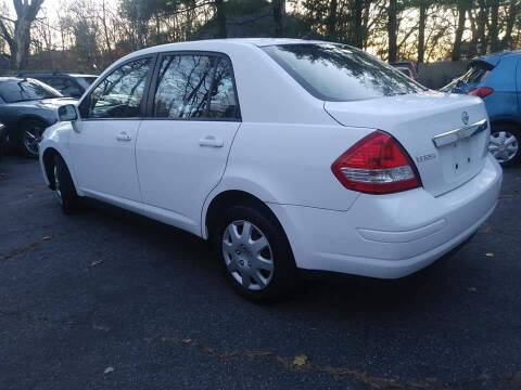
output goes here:
{"type": "Polygon", "coordinates": [[[92,197],[209,239],[256,300],[298,269],[414,273],[478,230],[501,183],[480,99],[338,43],[141,50],[60,117],[40,164],[63,211],[92,197]]]}

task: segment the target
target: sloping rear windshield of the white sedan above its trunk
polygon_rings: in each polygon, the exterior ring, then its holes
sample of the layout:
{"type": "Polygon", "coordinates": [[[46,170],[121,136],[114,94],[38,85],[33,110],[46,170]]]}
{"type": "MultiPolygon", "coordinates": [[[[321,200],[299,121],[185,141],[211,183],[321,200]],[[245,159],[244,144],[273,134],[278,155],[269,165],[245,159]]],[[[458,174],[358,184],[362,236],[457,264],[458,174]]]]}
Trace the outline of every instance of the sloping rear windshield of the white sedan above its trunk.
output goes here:
{"type": "Polygon", "coordinates": [[[399,70],[344,44],[298,43],[263,48],[314,96],[348,102],[427,91],[399,70]]]}

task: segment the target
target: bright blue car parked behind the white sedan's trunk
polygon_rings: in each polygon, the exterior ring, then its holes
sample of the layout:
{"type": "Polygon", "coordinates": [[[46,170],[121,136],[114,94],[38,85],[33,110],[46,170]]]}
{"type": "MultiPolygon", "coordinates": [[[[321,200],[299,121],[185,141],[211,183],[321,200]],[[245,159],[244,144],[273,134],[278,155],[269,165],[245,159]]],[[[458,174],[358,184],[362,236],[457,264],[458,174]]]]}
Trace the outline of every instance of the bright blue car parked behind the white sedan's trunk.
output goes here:
{"type": "Polygon", "coordinates": [[[488,150],[503,166],[521,160],[521,51],[473,60],[463,76],[441,91],[483,99],[491,119],[488,150]]]}

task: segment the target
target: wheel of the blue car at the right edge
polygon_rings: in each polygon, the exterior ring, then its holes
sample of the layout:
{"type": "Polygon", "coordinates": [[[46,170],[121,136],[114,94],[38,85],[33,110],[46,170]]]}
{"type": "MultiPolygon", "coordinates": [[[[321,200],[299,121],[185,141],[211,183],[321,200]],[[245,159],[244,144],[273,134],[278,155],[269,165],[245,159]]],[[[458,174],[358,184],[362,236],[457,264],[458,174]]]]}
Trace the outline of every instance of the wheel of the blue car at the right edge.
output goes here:
{"type": "Polygon", "coordinates": [[[494,125],[491,133],[488,151],[497,161],[509,167],[521,160],[521,131],[511,125],[494,125]]]}

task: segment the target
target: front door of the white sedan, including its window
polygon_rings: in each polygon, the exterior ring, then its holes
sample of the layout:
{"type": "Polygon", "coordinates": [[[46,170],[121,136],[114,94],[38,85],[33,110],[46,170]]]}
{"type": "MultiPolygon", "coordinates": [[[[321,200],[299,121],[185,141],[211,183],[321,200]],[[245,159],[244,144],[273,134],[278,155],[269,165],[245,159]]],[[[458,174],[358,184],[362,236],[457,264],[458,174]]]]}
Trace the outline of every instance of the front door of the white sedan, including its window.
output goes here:
{"type": "Polygon", "coordinates": [[[139,207],[136,139],[144,113],[144,92],[152,56],[116,68],[79,106],[80,116],[69,140],[80,190],[103,200],[139,207]]]}

